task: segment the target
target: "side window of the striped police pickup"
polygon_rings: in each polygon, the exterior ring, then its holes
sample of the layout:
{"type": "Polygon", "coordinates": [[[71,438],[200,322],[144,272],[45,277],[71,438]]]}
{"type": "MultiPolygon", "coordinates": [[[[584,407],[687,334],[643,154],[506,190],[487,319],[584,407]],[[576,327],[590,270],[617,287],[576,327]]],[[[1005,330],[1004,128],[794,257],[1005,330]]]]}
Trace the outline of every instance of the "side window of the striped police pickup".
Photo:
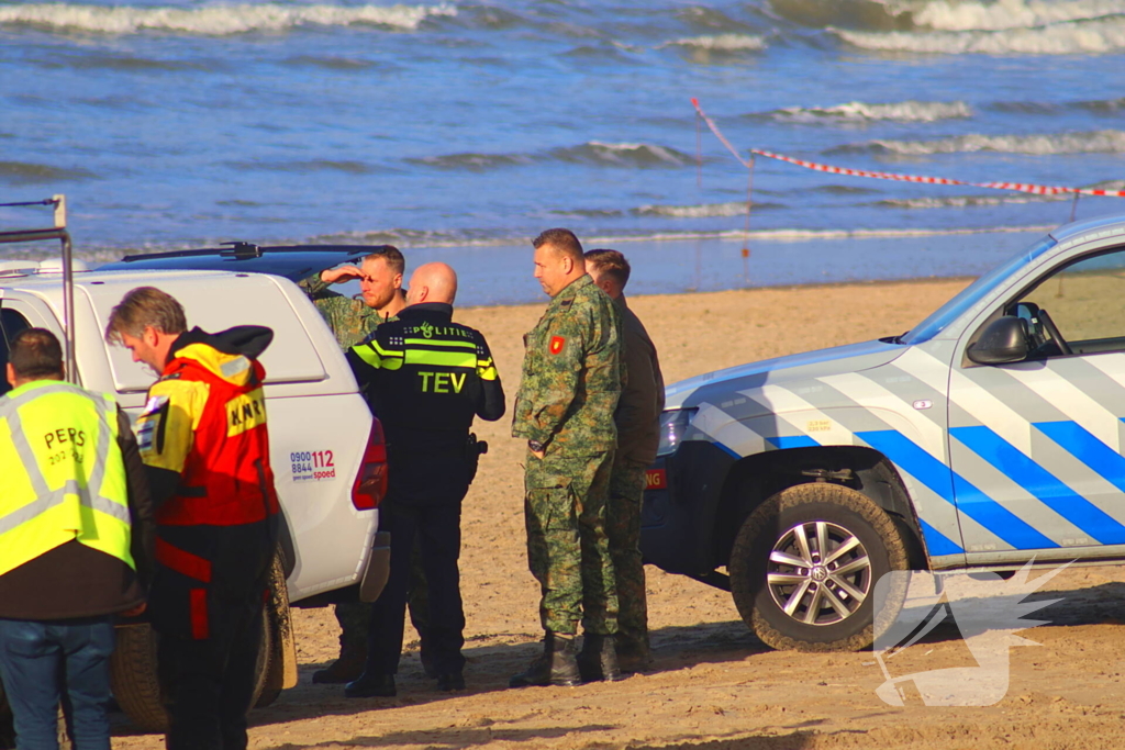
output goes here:
{"type": "MultiPolygon", "coordinates": [[[[1047,274],[1009,310],[1033,335],[1053,337],[1051,324],[1074,354],[1125,351],[1125,247],[1089,255],[1047,274]]],[[[1058,356],[1058,345],[1041,352],[1058,356]]]]}

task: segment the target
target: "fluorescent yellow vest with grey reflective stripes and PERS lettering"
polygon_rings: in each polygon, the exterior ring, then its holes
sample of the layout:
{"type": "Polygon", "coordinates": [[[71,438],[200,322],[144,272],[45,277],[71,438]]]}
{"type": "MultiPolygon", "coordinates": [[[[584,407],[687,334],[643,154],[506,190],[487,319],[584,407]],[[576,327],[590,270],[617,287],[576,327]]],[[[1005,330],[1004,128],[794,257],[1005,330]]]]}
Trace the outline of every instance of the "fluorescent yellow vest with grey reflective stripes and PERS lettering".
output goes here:
{"type": "Polygon", "coordinates": [[[136,568],[117,406],[33,380],[0,398],[0,576],[72,540],[136,568]]]}

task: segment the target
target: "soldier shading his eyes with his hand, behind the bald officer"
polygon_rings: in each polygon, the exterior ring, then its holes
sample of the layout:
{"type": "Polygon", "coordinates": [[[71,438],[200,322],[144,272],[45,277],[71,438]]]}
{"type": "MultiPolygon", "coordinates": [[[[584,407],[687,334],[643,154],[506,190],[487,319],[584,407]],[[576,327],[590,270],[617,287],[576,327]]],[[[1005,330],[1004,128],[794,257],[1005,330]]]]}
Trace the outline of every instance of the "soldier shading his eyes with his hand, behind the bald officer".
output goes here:
{"type": "MultiPolygon", "coordinates": [[[[300,282],[300,287],[316,305],[321,316],[332,328],[340,349],[345,352],[367,338],[379,325],[397,320],[406,306],[403,293],[403,273],[406,261],[394,245],[378,245],[363,257],[360,268],[342,265],[322,271],[300,282]],[[361,299],[344,297],[328,289],[333,283],[360,280],[361,299]]],[[[418,551],[411,557],[410,584],[411,623],[423,641],[422,662],[426,667],[425,635],[430,622],[425,575],[422,572],[418,551]]],[[[349,683],[360,676],[367,661],[367,633],[371,623],[371,605],[363,602],[342,602],[335,605],[340,623],[340,658],[325,669],[313,672],[314,683],[349,683]]]]}

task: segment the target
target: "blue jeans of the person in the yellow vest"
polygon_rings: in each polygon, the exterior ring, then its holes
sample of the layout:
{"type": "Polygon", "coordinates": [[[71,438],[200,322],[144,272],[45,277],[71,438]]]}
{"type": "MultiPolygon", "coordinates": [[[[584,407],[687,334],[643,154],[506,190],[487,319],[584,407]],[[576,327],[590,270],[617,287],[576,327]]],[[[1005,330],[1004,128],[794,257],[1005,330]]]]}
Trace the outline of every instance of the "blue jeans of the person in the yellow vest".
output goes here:
{"type": "Polygon", "coordinates": [[[109,750],[109,617],[33,622],[0,618],[0,677],[19,750],[58,750],[63,703],[75,750],[109,750]]]}

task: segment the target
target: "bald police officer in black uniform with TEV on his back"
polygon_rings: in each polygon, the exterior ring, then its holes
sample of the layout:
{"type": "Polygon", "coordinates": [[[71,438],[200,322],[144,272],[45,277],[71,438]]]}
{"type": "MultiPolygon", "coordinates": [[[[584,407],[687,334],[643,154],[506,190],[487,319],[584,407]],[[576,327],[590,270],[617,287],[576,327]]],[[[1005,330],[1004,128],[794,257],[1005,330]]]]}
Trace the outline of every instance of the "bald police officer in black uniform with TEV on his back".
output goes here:
{"type": "Polygon", "coordinates": [[[395,695],[415,536],[430,587],[430,645],[438,688],[465,687],[465,613],[457,559],[461,500],[480,448],[474,416],[504,416],[504,389],[479,331],[452,322],[457,274],[428,263],[411,277],[406,307],[348,353],[387,435],[390,482],[379,528],[390,532],[390,579],[372,605],[367,667],[348,697],[395,695]]]}

